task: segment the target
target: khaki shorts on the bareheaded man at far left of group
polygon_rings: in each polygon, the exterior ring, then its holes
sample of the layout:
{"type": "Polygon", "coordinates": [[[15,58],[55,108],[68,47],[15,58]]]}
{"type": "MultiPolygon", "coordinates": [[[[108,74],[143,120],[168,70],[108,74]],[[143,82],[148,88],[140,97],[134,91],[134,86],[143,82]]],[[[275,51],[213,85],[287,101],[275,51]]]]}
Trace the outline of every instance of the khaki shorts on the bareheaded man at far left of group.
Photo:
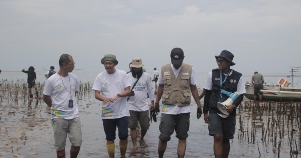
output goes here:
{"type": "Polygon", "coordinates": [[[52,119],[52,126],[54,131],[54,148],[57,151],[65,149],[67,134],[72,146],[81,146],[82,133],[79,118],[54,118],[52,119]]]}

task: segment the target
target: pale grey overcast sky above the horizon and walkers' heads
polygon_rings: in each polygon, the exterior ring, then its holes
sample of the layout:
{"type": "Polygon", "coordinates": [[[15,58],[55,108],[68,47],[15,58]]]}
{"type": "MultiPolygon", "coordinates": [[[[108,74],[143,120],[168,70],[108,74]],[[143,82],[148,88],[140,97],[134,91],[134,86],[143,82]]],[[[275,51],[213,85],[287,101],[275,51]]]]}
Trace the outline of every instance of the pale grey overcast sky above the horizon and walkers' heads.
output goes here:
{"type": "Polygon", "coordinates": [[[217,68],[215,55],[234,54],[243,74],[289,73],[301,67],[301,1],[0,1],[0,69],[58,70],[61,54],[76,69],[103,71],[114,54],[117,69],[141,57],[153,72],[170,63],[175,47],[197,72],[217,68]]]}

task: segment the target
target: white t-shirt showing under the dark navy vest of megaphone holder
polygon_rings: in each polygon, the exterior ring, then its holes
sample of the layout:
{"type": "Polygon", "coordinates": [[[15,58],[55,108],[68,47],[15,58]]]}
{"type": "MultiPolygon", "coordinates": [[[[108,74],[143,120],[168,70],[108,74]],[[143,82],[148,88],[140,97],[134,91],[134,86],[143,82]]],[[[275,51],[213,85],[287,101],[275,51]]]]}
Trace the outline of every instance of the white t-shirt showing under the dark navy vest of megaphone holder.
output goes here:
{"type": "MultiPolygon", "coordinates": [[[[233,71],[231,70],[231,72],[229,73],[229,76],[232,75],[232,72],[233,71]]],[[[227,75],[227,74],[224,74],[224,75],[227,75]]],[[[242,80],[242,76],[240,76],[240,79],[237,83],[237,92],[239,93],[239,95],[246,93],[246,88],[243,83],[244,82],[242,80]]],[[[212,71],[209,72],[209,75],[208,75],[207,80],[204,85],[204,89],[212,90],[212,71]]],[[[218,115],[220,115],[223,118],[226,118],[229,116],[229,115],[224,115],[224,114],[219,114],[219,113],[218,113],[218,115]]]]}

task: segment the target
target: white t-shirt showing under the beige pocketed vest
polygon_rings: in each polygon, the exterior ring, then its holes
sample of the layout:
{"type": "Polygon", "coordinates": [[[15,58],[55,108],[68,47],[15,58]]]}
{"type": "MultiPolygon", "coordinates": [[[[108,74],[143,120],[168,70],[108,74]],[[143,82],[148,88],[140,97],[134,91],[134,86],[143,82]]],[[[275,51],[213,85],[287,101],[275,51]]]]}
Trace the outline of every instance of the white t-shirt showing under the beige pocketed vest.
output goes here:
{"type": "MultiPolygon", "coordinates": [[[[172,66],[172,70],[175,74],[175,77],[177,78],[182,66],[179,69],[176,69],[173,64],[171,64],[171,66],[172,66]]],[[[163,79],[162,79],[162,75],[159,75],[158,83],[159,84],[164,84],[163,79]]],[[[195,81],[195,72],[192,68],[191,78],[190,78],[190,85],[196,85],[196,84],[197,83],[195,81]]],[[[190,106],[179,107],[177,105],[176,106],[163,105],[163,107],[162,107],[162,113],[166,113],[166,114],[180,114],[180,113],[188,113],[188,112],[191,112],[190,106]]]]}

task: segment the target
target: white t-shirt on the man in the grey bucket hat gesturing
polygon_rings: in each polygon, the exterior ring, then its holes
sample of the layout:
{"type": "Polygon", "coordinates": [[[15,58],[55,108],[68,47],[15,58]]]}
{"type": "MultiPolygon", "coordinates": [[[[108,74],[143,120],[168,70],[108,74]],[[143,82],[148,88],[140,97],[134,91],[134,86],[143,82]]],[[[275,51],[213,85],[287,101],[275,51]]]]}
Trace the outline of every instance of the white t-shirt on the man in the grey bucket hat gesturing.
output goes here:
{"type": "MultiPolygon", "coordinates": [[[[124,92],[126,87],[131,86],[127,75],[122,70],[117,70],[113,74],[106,71],[99,73],[94,81],[93,90],[101,91],[101,95],[106,98],[114,98],[118,93],[124,92]]],[[[127,97],[119,97],[114,102],[102,102],[102,119],[113,119],[129,116],[127,97]]]]}

